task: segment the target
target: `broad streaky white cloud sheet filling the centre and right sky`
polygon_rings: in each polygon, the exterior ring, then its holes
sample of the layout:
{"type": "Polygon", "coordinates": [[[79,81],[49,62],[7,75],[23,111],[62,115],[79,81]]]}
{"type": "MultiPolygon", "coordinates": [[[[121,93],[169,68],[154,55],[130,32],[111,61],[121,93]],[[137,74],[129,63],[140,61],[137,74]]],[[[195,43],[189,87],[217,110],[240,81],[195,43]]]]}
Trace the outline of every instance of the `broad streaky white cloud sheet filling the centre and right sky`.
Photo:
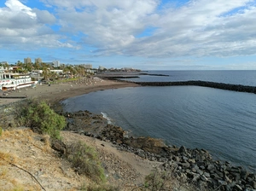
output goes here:
{"type": "Polygon", "coordinates": [[[159,10],[157,0],[44,0],[58,8],[62,30],[83,32],[96,54],[146,57],[254,54],[252,2],[194,0],[159,10]],[[136,38],[148,26],[153,35],[136,38]]]}

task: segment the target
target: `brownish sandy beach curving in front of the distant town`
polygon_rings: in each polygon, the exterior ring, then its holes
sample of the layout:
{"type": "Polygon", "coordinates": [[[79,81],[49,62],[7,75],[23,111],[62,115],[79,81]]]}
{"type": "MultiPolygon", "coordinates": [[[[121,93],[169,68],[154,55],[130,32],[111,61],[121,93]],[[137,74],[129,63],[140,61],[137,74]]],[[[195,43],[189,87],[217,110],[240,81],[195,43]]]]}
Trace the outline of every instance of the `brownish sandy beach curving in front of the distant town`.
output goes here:
{"type": "MultiPolygon", "coordinates": [[[[114,80],[102,80],[100,78],[90,79],[84,82],[69,82],[60,84],[37,84],[34,88],[23,88],[8,93],[6,98],[0,98],[0,106],[9,104],[20,99],[11,97],[26,96],[27,98],[36,98],[48,100],[50,102],[65,100],[68,97],[81,96],[97,90],[108,90],[125,87],[136,87],[137,84],[119,82],[114,80]]],[[[1,95],[2,96],[2,95],[1,95]]]]}

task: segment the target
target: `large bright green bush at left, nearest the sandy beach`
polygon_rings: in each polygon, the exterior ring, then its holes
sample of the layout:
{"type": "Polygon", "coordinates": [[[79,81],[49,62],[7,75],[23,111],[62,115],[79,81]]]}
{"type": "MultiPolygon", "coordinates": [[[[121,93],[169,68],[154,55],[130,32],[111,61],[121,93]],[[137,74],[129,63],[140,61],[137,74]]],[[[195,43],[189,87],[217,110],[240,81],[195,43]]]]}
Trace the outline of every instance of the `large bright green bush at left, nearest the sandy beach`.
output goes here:
{"type": "Polygon", "coordinates": [[[16,119],[20,125],[32,128],[38,133],[60,139],[60,130],[66,119],[55,113],[45,101],[26,100],[17,107],[16,119]]]}

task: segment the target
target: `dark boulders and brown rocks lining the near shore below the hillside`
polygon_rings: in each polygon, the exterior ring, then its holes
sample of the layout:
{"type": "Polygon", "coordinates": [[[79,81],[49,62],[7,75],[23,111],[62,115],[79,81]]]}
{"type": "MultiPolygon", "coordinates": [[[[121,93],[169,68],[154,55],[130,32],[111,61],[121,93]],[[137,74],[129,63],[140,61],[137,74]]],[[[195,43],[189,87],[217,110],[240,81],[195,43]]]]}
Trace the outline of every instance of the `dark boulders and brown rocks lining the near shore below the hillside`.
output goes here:
{"type": "Polygon", "coordinates": [[[122,128],[108,124],[102,115],[88,111],[62,113],[67,117],[67,130],[113,142],[117,148],[136,153],[143,159],[160,162],[161,171],[190,182],[200,190],[256,190],[256,175],[228,161],[212,159],[204,149],[166,146],[152,137],[129,136],[122,128]]]}

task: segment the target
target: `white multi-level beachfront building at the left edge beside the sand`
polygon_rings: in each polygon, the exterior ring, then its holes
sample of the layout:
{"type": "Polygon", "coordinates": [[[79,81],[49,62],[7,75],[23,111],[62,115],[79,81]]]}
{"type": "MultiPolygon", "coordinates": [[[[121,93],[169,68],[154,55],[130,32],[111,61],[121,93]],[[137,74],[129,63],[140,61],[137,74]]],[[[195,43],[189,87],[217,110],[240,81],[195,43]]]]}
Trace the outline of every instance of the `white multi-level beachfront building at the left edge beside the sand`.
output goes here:
{"type": "Polygon", "coordinates": [[[7,73],[0,69],[0,90],[17,90],[20,88],[31,87],[32,78],[20,73],[7,73]]]}

